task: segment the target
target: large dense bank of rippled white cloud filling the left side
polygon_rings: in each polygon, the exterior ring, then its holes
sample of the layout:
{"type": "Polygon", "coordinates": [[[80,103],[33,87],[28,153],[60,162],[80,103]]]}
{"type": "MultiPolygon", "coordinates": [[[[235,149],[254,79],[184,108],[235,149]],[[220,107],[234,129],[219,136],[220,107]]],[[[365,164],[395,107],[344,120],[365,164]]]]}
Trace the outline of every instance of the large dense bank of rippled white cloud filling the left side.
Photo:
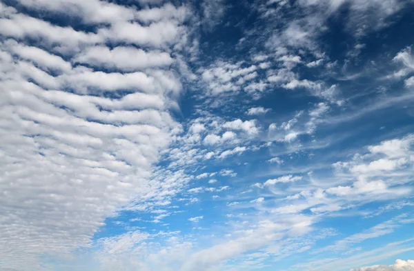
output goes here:
{"type": "MultiPolygon", "coordinates": [[[[163,69],[178,56],[168,46],[186,33],[185,8],[170,6],[179,14],[156,21],[159,10],[95,0],[19,3],[30,12],[0,3],[0,254],[2,265],[39,270],[41,255],[90,247],[107,217],[168,205],[191,179],[153,167],[181,127],[170,113],[181,82],[163,69]],[[29,15],[37,10],[65,12],[95,31],[29,15]]],[[[142,236],[111,239],[107,252],[142,236]]]]}

